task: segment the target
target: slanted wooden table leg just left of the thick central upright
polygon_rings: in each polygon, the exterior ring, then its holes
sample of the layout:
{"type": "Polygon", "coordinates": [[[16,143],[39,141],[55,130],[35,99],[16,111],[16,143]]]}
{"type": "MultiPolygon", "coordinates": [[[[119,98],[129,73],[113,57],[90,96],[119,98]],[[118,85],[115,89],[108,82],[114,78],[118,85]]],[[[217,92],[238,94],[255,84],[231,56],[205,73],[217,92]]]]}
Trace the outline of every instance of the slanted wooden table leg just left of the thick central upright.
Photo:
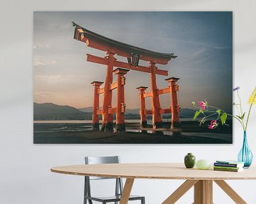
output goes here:
{"type": "Polygon", "coordinates": [[[181,186],[179,186],[174,193],[171,194],[162,204],[174,204],[181,196],[183,196],[192,186],[194,186],[197,180],[187,180],[181,186]]]}

